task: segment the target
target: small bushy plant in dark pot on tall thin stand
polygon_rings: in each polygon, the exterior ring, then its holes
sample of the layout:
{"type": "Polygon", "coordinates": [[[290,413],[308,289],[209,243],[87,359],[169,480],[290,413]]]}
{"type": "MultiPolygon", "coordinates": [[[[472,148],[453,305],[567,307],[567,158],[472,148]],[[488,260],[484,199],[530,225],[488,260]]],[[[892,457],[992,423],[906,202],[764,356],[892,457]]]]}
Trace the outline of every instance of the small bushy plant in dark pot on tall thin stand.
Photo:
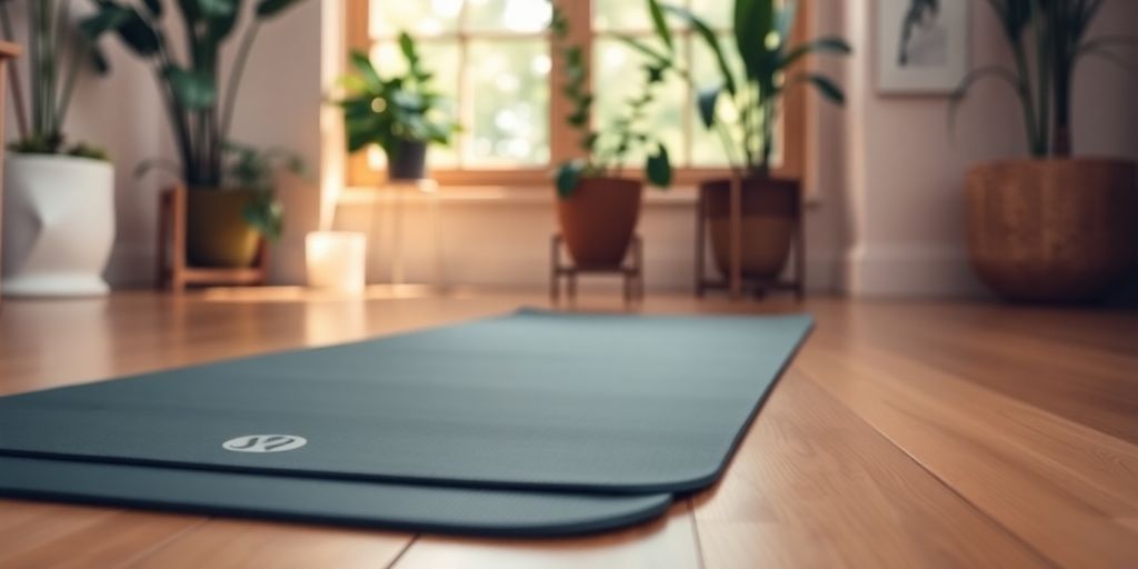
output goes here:
{"type": "Polygon", "coordinates": [[[407,72],[390,79],[379,75],[366,53],[353,51],[355,74],[340,80],[348,94],[337,104],[344,109],[348,151],[378,145],[387,155],[390,180],[421,180],[427,146],[450,145],[459,125],[442,110],[446,100],[405,32],[399,34],[399,50],[407,72]]]}

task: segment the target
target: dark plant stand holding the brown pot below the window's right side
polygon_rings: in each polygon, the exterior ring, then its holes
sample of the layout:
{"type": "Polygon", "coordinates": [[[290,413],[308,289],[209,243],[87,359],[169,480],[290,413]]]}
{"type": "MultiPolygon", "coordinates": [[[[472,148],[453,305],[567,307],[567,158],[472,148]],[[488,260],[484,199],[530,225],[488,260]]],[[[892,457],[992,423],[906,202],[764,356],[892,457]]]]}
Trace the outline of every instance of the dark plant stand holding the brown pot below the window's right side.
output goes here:
{"type": "Polygon", "coordinates": [[[742,181],[732,180],[731,183],[731,270],[726,279],[709,278],[707,275],[707,216],[708,197],[704,188],[699,189],[699,200],[695,207],[695,296],[703,298],[708,290],[727,290],[732,300],[743,298],[744,289],[750,289],[756,297],[764,296],[770,290],[791,290],[794,298],[801,302],[806,297],[806,223],[802,208],[801,187],[799,196],[794,199],[794,236],[791,240],[791,249],[794,257],[793,278],[784,280],[781,277],[770,279],[757,279],[743,277],[743,195],[742,181]]]}

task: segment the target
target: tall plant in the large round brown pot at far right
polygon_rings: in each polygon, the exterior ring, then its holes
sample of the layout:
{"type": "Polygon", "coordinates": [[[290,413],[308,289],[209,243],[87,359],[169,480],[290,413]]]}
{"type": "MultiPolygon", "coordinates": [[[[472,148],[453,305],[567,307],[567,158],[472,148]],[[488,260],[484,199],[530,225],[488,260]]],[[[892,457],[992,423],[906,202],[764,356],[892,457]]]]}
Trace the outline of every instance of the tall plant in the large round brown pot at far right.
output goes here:
{"type": "Polygon", "coordinates": [[[1006,82],[1020,100],[1031,156],[968,173],[972,264],[1009,300],[1095,299],[1124,280],[1138,257],[1138,174],[1129,160],[1071,156],[1074,72],[1086,57],[1116,61],[1112,50],[1138,39],[1087,38],[1103,1],[990,3],[1014,66],[972,72],[951,113],[975,82],[1006,82]]]}

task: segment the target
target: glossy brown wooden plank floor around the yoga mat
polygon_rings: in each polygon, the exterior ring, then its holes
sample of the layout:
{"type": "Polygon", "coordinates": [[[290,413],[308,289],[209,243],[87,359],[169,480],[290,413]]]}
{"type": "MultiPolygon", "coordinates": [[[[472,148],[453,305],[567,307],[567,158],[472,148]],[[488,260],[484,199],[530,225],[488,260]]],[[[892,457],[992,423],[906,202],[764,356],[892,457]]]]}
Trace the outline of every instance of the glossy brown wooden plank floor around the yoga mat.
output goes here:
{"type": "MultiPolygon", "coordinates": [[[[0,394],[543,305],[298,291],[6,302],[0,394]]],[[[587,299],[588,310],[617,310],[587,299]]],[[[786,312],[650,297],[645,312],[786,312]]],[[[0,501],[2,567],[1138,567],[1138,314],[810,300],[723,481],[653,523],[460,539],[0,501]]]]}

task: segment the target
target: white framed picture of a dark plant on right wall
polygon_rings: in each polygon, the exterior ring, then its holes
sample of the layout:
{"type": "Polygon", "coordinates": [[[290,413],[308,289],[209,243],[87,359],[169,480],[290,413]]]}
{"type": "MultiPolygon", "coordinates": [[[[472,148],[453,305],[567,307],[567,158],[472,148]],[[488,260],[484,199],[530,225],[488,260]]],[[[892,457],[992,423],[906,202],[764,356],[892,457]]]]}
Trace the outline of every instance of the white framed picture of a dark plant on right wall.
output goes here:
{"type": "Polygon", "coordinates": [[[968,73],[968,0],[877,0],[877,91],[948,94],[968,73]]]}

